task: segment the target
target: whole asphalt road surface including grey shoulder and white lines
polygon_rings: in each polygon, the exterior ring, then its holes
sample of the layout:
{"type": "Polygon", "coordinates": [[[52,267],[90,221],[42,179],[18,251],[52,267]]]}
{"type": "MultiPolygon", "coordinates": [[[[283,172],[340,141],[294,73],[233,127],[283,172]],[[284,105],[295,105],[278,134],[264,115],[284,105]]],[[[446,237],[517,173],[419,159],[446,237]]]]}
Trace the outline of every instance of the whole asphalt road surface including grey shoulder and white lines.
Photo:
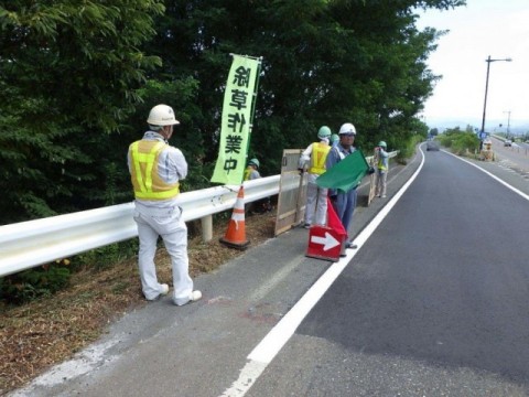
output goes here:
{"type": "Polygon", "coordinates": [[[292,229],[13,395],[528,396],[525,175],[424,152],[388,194],[358,208],[344,260],[305,257],[292,229]]]}

